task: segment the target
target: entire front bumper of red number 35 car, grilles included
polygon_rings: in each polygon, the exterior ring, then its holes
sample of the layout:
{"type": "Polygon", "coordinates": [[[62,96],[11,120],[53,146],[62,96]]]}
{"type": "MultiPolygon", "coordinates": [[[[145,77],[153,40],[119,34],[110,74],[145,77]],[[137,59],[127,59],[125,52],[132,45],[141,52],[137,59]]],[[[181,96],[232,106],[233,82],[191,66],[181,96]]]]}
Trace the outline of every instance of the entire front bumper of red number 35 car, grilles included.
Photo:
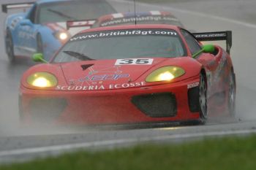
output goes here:
{"type": "Polygon", "coordinates": [[[20,88],[23,123],[97,125],[197,120],[194,77],[142,88],[97,91],[48,91],[20,88]],[[193,91],[193,93],[191,93],[193,91]]]}

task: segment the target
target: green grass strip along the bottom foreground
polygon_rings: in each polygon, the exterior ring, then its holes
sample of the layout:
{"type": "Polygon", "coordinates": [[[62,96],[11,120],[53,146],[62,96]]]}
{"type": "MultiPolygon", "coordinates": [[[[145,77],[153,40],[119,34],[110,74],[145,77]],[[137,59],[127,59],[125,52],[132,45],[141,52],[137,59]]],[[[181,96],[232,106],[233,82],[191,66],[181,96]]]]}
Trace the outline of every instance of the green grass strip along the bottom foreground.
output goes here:
{"type": "Polygon", "coordinates": [[[255,158],[256,136],[247,136],[184,144],[146,144],[100,152],[80,151],[57,158],[0,166],[0,169],[255,170],[255,158]]]}

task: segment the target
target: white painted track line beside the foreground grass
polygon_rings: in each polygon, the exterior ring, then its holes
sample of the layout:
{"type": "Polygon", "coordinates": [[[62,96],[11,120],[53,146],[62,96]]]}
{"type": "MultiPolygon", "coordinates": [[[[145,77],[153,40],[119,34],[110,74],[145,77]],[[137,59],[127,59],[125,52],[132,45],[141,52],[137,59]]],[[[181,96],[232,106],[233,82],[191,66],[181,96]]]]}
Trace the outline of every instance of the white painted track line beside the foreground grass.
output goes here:
{"type": "Polygon", "coordinates": [[[170,139],[188,139],[188,138],[199,138],[204,136],[226,136],[226,135],[242,135],[242,134],[255,134],[256,129],[251,130],[240,130],[240,131],[214,131],[206,133],[194,133],[194,134],[173,134],[165,136],[153,136],[146,138],[134,138],[134,139],[113,139],[107,141],[96,141],[96,142],[84,142],[80,144],[62,144],[48,147],[34,147],[20,150],[7,150],[0,152],[0,158],[18,156],[25,154],[39,154],[44,152],[64,152],[68,150],[85,149],[88,147],[104,147],[104,146],[115,146],[117,144],[132,144],[138,142],[151,142],[151,141],[164,141],[170,139]]]}

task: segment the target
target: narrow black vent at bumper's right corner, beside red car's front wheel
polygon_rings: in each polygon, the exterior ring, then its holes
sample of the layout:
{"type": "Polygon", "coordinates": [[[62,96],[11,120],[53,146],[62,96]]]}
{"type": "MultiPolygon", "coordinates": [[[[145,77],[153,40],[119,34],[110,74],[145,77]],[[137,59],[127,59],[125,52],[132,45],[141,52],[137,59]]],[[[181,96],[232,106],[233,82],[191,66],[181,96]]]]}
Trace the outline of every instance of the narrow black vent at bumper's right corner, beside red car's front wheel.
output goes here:
{"type": "Polygon", "coordinates": [[[199,87],[190,88],[188,91],[190,112],[199,112],[199,87]]]}

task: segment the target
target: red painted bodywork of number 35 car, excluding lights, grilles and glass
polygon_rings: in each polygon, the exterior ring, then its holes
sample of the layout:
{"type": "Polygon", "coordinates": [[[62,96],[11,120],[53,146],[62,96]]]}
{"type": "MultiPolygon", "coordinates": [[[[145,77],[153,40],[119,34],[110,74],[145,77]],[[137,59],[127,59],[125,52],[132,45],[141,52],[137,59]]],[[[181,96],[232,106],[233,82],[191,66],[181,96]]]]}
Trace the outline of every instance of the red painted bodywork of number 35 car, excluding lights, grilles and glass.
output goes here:
{"type": "MultiPolygon", "coordinates": [[[[187,121],[200,119],[199,112],[189,108],[189,85],[199,82],[202,69],[206,72],[209,105],[216,107],[214,95],[227,92],[230,70],[233,68],[230,55],[216,46],[217,54],[202,53],[192,58],[187,42],[177,26],[140,25],[94,28],[83,31],[103,31],[130,28],[173,29],[178,32],[187,48],[187,57],[154,58],[151,65],[115,66],[116,60],[75,61],[70,63],[48,63],[31,67],[23,74],[20,83],[20,114],[23,121],[33,122],[35,110],[31,109],[34,99],[64,99],[64,107],[58,111],[50,122],[64,124],[116,124],[116,123],[151,123],[187,121]],[[225,59],[223,59],[225,58],[225,59]],[[83,70],[82,65],[90,65],[83,70]],[[145,82],[146,76],[162,66],[180,66],[186,72],[171,82],[145,82]],[[34,72],[50,72],[58,77],[58,85],[54,88],[37,89],[26,81],[34,72]],[[102,77],[108,72],[110,77],[102,77]],[[115,77],[115,74],[129,74],[129,77],[115,77]],[[113,76],[113,77],[112,77],[113,76]],[[101,79],[105,80],[102,81],[101,79]],[[108,80],[110,78],[110,80],[108,80]],[[91,88],[90,88],[91,86],[91,88]],[[97,88],[96,88],[97,87],[97,88]],[[155,93],[170,93],[176,98],[176,114],[170,117],[151,117],[138,109],[132,98],[155,93]]],[[[219,109],[225,109],[225,102],[219,109]]],[[[41,109],[48,109],[42,106],[41,109]]],[[[37,113],[36,113],[37,114],[37,113]]],[[[38,114],[37,114],[38,116],[38,114]]],[[[40,115],[39,117],[44,117],[40,115]]],[[[48,121],[48,120],[47,120],[48,121]]]]}

